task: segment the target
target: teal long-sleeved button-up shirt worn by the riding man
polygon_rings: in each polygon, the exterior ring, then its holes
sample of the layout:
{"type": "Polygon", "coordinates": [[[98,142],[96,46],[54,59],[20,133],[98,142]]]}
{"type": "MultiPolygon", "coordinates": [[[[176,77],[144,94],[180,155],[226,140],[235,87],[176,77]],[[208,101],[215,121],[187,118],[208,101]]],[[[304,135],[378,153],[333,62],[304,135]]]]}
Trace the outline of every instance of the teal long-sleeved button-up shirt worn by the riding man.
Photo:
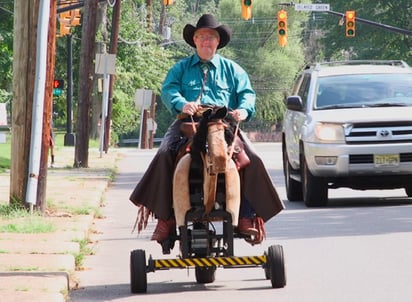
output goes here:
{"type": "MultiPolygon", "coordinates": [[[[193,54],[177,62],[163,82],[161,98],[173,114],[182,112],[187,102],[195,102],[203,83],[203,62],[193,54]]],[[[209,71],[201,104],[245,109],[247,120],[255,115],[256,93],[246,71],[232,60],[216,54],[209,61],[209,71]]]]}

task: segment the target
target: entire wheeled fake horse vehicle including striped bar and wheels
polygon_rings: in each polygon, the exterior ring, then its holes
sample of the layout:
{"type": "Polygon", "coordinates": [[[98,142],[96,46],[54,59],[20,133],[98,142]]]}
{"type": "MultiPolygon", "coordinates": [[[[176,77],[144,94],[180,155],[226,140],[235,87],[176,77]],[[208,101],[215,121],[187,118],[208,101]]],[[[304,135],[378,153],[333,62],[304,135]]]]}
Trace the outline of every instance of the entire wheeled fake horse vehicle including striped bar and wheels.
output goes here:
{"type": "Polygon", "coordinates": [[[197,283],[205,284],[214,282],[218,267],[261,266],[273,288],[285,286],[282,246],[272,245],[260,256],[234,255],[234,237],[245,238],[234,232],[241,201],[238,169],[248,161],[239,159],[241,152],[235,150],[238,128],[234,133],[230,131],[224,119],[226,114],[225,107],[207,108],[198,122],[182,121],[181,125],[193,128],[194,134],[187,135],[191,137],[189,148],[185,146],[184,155],[178,155],[173,177],[173,207],[179,235],[171,234],[159,242],[163,254],[170,254],[174,242],[179,240],[180,255],[172,259],[150,256],[146,265],[145,251],[133,250],[133,293],[146,292],[148,272],[188,267],[194,267],[197,283]],[[238,155],[233,157],[234,153],[238,155]]]}

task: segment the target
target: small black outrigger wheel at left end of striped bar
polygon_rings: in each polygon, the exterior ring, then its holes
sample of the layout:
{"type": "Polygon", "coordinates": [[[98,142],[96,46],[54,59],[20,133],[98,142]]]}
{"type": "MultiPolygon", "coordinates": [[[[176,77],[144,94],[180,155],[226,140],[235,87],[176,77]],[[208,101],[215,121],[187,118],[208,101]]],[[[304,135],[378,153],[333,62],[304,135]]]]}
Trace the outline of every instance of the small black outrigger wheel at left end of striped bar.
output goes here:
{"type": "Polygon", "coordinates": [[[147,291],[146,253],[134,250],[130,253],[130,289],[132,293],[147,291]]]}

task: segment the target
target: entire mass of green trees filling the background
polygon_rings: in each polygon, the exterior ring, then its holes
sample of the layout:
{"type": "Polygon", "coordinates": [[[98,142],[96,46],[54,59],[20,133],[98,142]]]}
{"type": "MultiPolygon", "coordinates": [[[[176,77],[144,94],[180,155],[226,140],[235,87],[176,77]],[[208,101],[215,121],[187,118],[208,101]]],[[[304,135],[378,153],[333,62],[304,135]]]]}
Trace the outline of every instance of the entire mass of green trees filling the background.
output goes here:
{"type": "MultiPolygon", "coordinates": [[[[253,2],[251,20],[241,18],[238,0],[174,1],[164,7],[162,1],[152,1],[149,9],[145,0],[122,1],[120,37],[116,59],[113,95],[113,136],[137,136],[140,109],[134,105],[138,88],[152,89],[157,95],[157,137],[161,137],[173,116],[158,97],[167,70],[177,60],[193,53],[182,38],[183,27],[195,24],[203,13],[215,14],[233,31],[232,40],[220,53],[238,62],[249,73],[257,93],[257,115],[250,127],[268,128],[283,116],[283,99],[291,89],[293,79],[305,62],[335,59],[404,59],[412,65],[410,35],[356,23],[356,37],[346,38],[340,17],[326,12],[299,12],[280,0],[253,2]],[[276,12],[288,12],[288,44],[278,44],[276,12]],[[150,15],[151,22],[147,21],[150,15]],[[170,32],[170,36],[167,33],[170,32]],[[382,47],[384,45],[384,47],[382,47]]],[[[311,1],[300,1],[300,3],[311,1]]],[[[410,0],[331,0],[331,10],[344,13],[355,10],[358,18],[403,29],[411,28],[410,0]]],[[[0,9],[0,102],[12,98],[13,1],[4,1],[0,9]]],[[[112,9],[107,9],[98,41],[109,44],[112,9]]],[[[73,33],[73,110],[76,111],[78,65],[81,27],[73,33]]],[[[67,39],[57,39],[56,78],[67,78],[67,39]]],[[[11,103],[11,102],[10,102],[11,103]]],[[[10,104],[11,106],[11,104],[10,104]]],[[[9,107],[10,107],[9,106],[9,107]]],[[[10,108],[9,108],[10,109],[10,108]]],[[[66,96],[54,98],[54,126],[66,125],[66,96]]],[[[76,114],[73,114],[76,116],[76,114]]]]}

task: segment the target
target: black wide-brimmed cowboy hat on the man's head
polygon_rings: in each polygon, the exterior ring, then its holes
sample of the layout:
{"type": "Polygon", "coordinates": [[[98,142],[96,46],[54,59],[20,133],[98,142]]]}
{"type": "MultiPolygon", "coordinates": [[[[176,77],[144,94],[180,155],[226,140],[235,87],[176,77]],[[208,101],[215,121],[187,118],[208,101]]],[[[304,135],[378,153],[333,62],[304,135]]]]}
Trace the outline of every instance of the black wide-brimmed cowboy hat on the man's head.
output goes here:
{"type": "Polygon", "coordinates": [[[226,46],[227,43],[230,41],[230,37],[232,36],[232,31],[226,25],[219,25],[213,15],[204,14],[200,17],[199,21],[197,21],[196,27],[191,24],[186,24],[183,28],[183,39],[185,39],[186,43],[192,47],[196,47],[195,43],[193,42],[193,35],[195,31],[200,28],[210,28],[214,29],[219,33],[220,42],[217,48],[223,48],[226,46]]]}

